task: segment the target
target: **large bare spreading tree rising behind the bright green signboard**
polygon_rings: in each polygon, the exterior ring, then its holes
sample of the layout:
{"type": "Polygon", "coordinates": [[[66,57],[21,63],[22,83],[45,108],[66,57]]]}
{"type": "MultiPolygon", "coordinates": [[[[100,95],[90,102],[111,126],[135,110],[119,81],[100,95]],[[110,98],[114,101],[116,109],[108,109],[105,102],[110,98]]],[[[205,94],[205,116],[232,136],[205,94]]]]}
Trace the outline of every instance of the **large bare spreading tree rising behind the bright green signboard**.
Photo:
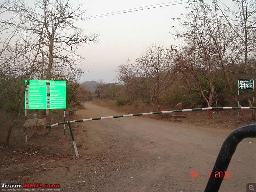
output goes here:
{"type": "Polygon", "coordinates": [[[25,42],[32,39],[32,43],[28,42],[31,47],[38,44],[40,31],[44,28],[40,57],[36,63],[37,78],[74,79],[84,72],[77,67],[83,57],[76,50],[83,44],[96,42],[98,35],[85,34],[84,29],[75,25],[76,21],[85,21],[85,11],[81,6],[78,4],[73,8],[68,0],[36,0],[34,7],[24,5],[20,10],[24,23],[20,37],[25,42]]]}

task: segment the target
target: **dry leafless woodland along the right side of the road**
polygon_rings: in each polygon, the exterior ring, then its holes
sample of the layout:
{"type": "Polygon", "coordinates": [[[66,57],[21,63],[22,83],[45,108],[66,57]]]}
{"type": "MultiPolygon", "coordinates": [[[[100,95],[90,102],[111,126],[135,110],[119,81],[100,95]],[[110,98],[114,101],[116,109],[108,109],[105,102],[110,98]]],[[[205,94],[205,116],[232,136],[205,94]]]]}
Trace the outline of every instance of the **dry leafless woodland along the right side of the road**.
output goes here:
{"type": "MultiPolygon", "coordinates": [[[[256,78],[255,4],[234,0],[190,3],[189,14],[172,18],[183,27],[171,33],[182,45],[151,44],[135,63],[117,68],[118,84],[99,82],[95,96],[117,105],[146,103],[184,108],[237,107],[238,79],[256,78]]],[[[254,82],[255,83],[255,82],[254,82]]],[[[240,90],[239,105],[252,107],[253,90],[240,90]]]]}

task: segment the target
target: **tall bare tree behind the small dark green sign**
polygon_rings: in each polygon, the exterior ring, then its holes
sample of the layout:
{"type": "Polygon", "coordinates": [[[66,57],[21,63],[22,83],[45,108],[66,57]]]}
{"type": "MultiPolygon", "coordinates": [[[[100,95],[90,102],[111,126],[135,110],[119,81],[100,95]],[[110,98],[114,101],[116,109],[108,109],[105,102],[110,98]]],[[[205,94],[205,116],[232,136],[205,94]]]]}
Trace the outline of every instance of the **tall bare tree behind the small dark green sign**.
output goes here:
{"type": "MultiPolygon", "coordinates": [[[[223,8],[220,2],[214,0],[216,7],[221,11],[222,18],[225,19],[232,33],[236,34],[234,43],[239,44],[235,47],[230,58],[232,62],[244,64],[244,78],[251,79],[252,73],[248,71],[248,56],[255,54],[256,43],[256,6],[254,0],[232,0],[235,3],[235,9],[227,6],[223,8]]],[[[241,77],[240,77],[241,78],[241,77]]],[[[250,107],[252,102],[251,94],[246,90],[247,100],[250,107]]]]}

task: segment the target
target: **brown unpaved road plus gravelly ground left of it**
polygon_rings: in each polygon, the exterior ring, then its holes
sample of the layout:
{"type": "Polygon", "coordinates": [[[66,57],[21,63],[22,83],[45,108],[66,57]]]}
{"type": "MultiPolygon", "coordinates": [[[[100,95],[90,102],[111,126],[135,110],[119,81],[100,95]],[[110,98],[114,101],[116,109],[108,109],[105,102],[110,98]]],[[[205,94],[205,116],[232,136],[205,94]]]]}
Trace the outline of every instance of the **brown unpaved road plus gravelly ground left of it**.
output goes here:
{"type": "MultiPolygon", "coordinates": [[[[92,102],[85,107],[71,120],[121,115],[92,102]]],[[[208,171],[212,171],[223,141],[233,131],[218,128],[220,124],[172,123],[145,116],[71,125],[78,159],[45,154],[40,146],[35,148],[37,155],[28,156],[1,145],[0,179],[21,180],[29,176],[14,184],[60,184],[61,191],[68,192],[204,191],[208,171]],[[197,172],[198,178],[191,178],[191,172],[197,172]]],[[[72,145],[71,138],[60,141],[56,145],[72,145]]],[[[256,182],[255,141],[247,138],[239,143],[228,167],[231,177],[224,178],[220,191],[246,191],[247,183],[256,182]]]]}

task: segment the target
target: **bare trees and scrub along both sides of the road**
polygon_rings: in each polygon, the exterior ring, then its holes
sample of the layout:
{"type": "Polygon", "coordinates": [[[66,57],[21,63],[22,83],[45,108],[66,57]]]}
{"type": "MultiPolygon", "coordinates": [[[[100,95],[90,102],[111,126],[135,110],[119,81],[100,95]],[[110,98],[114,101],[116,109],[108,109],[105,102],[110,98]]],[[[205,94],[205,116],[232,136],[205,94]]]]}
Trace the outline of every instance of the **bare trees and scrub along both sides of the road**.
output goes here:
{"type": "MultiPolygon", "coordinates": [[[[0,106],[10,113],[24,111],[26,79],[66,80],[68,108],[93,97],[116,100],[118,106],[155,105],[158,111],[180,102],[184,108],[238,106],[238,79],[256,79],[256,11],[253,0],[230,2],[232,9],[217,0],[190,2],[188,14],[170,18],[182,28],[171,26],[170,32],[181,45],[150,44],[136,62],[127,58],[118,66],[116,83],[100,80],[93,93],[74,81],[84,73],[77,46],[99,37],[76,26],[76,20],[85,20],[81,5],[3,1],[0,106]]],[[[252,107],[253,93],[240,90],[240,105],[252,107]]]]}

